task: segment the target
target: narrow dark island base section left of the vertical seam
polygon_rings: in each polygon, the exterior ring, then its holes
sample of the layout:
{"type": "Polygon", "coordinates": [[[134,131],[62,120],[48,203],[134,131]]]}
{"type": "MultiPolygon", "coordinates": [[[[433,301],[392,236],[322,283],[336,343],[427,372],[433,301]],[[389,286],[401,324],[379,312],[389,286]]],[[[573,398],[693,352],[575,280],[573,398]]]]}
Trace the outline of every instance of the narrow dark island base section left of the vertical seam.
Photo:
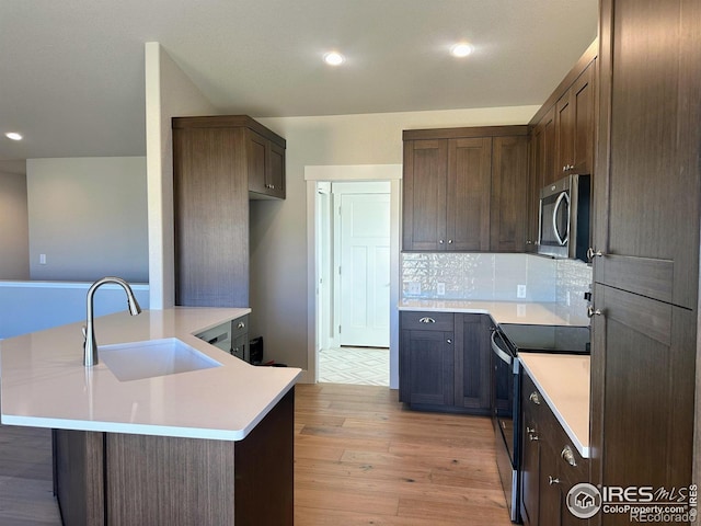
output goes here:
{"type": "Polygon", "coordinates": [[[64,524],[105,525],[103,434],[54,430],[54,493],[64,524]]]}

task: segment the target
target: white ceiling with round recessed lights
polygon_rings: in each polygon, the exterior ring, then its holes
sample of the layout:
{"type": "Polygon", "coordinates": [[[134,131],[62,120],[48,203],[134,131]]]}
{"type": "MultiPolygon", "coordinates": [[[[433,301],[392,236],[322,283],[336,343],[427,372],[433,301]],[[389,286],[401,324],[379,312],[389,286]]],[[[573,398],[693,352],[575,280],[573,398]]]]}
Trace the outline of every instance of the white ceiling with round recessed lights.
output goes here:
{"type": "Polygon", "coordinates": [[[597,0],[0,0],[0,161],[145,155],[146,42],[160,42],[221,113],[540,105],[596,37],[597,9],[597,0]],[[447,53],[459,39],[475,48],[467,59],[447,53]],[[331,48],[346,55],[342,67],[322,64],[331,48]],[[10,130],[25,140],[7,139],[10,130]]]}

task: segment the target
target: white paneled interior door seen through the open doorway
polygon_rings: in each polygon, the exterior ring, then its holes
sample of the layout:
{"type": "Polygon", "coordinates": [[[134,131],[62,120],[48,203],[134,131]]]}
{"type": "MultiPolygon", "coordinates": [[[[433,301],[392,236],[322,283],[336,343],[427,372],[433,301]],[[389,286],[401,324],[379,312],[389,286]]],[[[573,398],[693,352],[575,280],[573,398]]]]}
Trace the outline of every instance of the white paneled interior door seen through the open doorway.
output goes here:
{"type": "Polygon", "coordinates": [[[341,194],[341,345],[389,347],[390,194],[341,194]]]}

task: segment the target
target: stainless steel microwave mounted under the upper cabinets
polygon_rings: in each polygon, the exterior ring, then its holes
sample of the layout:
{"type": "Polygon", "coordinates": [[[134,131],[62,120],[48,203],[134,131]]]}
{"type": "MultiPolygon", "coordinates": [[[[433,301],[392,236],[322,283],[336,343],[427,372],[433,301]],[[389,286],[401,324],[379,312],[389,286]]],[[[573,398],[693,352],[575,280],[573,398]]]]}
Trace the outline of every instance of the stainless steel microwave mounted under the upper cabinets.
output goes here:
{"type": "Polygon", "coordinates": [[[572,174],[540,191],[538,253],[587,261],[591,178],[572,174]]]}

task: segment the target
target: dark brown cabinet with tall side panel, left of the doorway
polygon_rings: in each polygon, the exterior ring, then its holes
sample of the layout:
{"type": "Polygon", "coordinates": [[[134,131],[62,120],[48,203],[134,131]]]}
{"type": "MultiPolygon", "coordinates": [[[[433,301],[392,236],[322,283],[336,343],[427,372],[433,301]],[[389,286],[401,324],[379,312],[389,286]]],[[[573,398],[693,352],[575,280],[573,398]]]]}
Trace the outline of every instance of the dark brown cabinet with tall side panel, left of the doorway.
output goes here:
{"type": "Polygon", "coordinates": [[[172,126],[175,305],[249,307],[249,199],[285,196],[285,139],[245,115],[172,126]]]}

